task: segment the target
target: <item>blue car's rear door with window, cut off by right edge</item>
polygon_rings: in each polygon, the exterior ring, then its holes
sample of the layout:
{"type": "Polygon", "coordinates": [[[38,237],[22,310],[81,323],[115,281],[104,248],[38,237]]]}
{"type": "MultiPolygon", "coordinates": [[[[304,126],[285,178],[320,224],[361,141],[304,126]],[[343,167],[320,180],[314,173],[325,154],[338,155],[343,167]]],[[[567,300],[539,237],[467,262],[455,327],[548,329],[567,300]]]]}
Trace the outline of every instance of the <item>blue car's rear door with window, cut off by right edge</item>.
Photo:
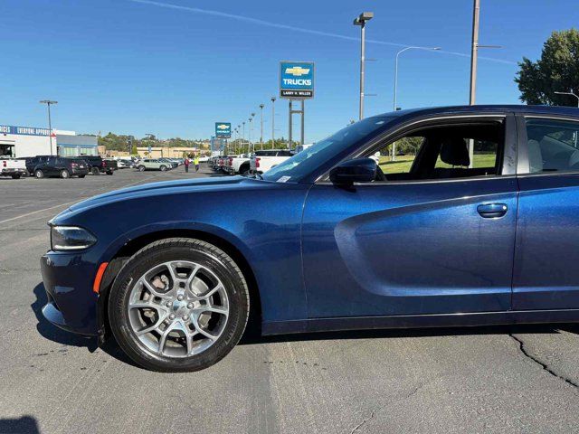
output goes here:
{"type": "Polygon", "coordinates": [[[579,308],[579,118],[517,117],[513,308],[579,308]]]}

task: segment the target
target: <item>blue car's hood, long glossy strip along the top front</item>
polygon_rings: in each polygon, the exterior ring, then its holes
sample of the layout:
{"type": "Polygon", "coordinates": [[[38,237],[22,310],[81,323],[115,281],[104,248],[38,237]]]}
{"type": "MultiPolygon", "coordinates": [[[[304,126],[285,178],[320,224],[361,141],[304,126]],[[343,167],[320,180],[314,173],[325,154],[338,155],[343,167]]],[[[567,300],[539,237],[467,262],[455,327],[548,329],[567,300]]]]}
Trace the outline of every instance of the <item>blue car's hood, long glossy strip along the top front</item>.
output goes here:
{"type": "Polygon", "coordinates": [[[142,184],[93,196],[80,203],[75,203],[67,211],[80,212],[106,203],[126,201],[138,197],[176,193],[214,192],[223,189],[255,188],[265,184],[271,183],[243,176],[210,177],[142,184]]]}

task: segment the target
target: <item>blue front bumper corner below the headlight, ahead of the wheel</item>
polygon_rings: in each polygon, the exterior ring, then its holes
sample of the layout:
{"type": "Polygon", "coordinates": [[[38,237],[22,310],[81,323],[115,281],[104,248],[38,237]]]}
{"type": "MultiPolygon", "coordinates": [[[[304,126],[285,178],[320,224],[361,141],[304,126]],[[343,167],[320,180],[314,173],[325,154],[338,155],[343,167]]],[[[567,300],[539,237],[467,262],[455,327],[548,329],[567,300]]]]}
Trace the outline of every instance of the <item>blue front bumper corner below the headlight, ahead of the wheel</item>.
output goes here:
{"type": "Polygon", "coordinates": [[[53,325],[81,335],[98,335],[98,294],[92,291],[97,272],[82,254],[47,252],[40,261],[48,297],[43,316],[53,325]]]}

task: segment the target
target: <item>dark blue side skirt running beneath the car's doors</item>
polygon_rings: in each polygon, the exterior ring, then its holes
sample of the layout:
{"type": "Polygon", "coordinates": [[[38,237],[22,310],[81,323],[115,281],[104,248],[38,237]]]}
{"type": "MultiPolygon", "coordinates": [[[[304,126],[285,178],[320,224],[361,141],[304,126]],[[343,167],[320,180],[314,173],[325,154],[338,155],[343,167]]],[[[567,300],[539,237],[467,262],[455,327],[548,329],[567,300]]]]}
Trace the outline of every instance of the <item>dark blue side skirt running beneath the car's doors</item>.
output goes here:
{"type": "Polygon", "coordinates": [[[269,321],[261,325],[262,335],[334,332],[385,328],[475,327],[480,325],[548,324],[579,322],[579,309],[477,312],[460,314],[355,316],[269,321]]]}

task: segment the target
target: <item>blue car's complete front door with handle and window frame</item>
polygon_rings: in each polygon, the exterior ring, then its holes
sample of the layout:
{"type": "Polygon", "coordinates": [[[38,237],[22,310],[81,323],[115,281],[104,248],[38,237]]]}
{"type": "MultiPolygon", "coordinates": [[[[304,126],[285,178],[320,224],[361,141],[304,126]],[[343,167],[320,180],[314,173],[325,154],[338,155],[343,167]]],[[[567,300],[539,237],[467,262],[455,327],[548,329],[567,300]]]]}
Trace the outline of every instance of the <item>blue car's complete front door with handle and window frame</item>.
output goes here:
{"type": "MultiPolygon", "coordinates": [[[[309,317],[510,309],[516,128],[511,115],[494,119],[502,123],[504,140],[497,175],[350,189],[322,178],[311,187],[302,229],[309,317]]],[[[440,174],[460,170],[467,169],[434,168],[440,174]]]]}

